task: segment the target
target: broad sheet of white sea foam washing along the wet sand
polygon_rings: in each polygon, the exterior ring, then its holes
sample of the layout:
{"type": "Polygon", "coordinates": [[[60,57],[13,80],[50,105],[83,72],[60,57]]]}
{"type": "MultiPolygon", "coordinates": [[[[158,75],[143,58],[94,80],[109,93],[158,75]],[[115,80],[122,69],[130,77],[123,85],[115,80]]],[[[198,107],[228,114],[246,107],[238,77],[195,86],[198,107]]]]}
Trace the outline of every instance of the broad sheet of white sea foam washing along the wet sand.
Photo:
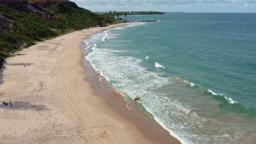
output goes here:
{"type": "Polygon", "coordinates": [[[86,59],[90,61],[92,67],[98,73],[106,77],[109,82],[114,83],[115,88],[123,92],[125,97],[133,98],[135,95],[142,97],[141,103],[152,113],[155,120],[167,129],[171,135],[177,137],[179,141],[187,143],[186,141],[189,137],[181,132],[184,129],[183,123],[173,123],[172,121],[173,124],[171,124],[168,115],[183,117],[188,115],[190,110],[178,106],[178,104],[173,105],[172,101],[161,93],[154,92],[153,90],[147,91],[147,89],[158,88],[170,83],[168,79],[158,76],[158,74],[150,73],[145,68],[139,66],[139,63],[142,62],[140,59],[115,55],[115,53],[123,51],[98,49],[97,47],[92,47],[92,49],[93,51],[90,55],[86,56],[86,59]],[[126,68],[129,68],[129,70],[126,68]],[[104,73],[101,69],[104,69],[104,73]],[[132,77],[132,79],[127,77],[132,77]],[[130,83],[133,83],[133,85],[130,85],[130,83]],[[162,95],[162,97],[155,97],[155,95],[162,95]],[[154,109],[155,105],[158,105],[158,109],[154,109]],[[166,111],[166,107],[178,109],[181,113],[166,111]],[[161,115],[161,113],[165,112],[167,112],[166,116],[161,115]]]}

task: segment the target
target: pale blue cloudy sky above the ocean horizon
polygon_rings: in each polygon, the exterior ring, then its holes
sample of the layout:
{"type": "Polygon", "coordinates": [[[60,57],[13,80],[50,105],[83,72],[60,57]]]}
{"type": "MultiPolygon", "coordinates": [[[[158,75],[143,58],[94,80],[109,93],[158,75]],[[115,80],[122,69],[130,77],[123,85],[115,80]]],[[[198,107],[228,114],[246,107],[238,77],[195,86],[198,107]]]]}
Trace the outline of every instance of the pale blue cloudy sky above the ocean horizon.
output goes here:
{"type": "MultiPolygon", "coordinates": [[[[256,13],[256,0],[71,0],[91,11],[256,13]]],[[[255,18],[256,19],[256,18],[255,18]]]]}

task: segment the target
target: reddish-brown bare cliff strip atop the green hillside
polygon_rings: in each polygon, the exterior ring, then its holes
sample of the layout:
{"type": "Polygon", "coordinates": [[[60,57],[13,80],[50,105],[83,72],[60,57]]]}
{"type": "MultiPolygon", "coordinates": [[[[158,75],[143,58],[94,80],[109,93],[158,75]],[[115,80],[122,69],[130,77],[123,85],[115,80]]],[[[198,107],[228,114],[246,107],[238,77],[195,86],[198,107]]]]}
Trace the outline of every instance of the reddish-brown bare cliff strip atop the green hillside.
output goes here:
{"type": "Polygon", "coordinates": [[[26,13],[38,14],[46,19],[51,19],[51,14],[46,13],[45,10],[28,1],[0,0],[0,6],[20,10],[26,13]]]}

